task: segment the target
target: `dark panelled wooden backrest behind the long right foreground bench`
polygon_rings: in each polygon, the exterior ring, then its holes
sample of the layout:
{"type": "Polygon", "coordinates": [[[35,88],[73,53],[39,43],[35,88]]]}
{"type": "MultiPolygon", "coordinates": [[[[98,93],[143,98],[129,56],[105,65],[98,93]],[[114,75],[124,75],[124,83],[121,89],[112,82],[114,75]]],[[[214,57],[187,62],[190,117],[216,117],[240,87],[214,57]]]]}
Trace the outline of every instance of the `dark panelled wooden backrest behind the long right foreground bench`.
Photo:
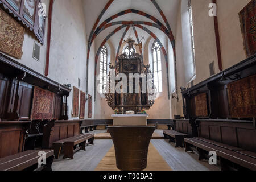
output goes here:
{"type": "Polygon", "coordinates": [[[252,121],[197,119],[199,137],[256,152],[256,128],[252,121]]]}

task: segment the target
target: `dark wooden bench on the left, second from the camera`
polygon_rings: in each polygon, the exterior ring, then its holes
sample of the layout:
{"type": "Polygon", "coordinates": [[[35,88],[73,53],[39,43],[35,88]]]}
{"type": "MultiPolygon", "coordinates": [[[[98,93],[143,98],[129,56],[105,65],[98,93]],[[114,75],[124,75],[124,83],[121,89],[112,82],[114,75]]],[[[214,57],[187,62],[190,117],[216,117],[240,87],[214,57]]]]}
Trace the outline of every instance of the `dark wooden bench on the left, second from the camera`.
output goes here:
{"type": "Polygon", "coordinates": [[[73,155],[76,151],[84,150],[85,146],[89,144],[94,144],[94,134],[81,134],[77,137],[72,137],[67,139],[64,142],[63,150],[64,150],[64,159],[70,158],[73,159],[73,155]],[[88,140],[88,143],[86,143],[86,140],[88,140]],[[79,144],[79,147],[75,148],[79,144]]]}

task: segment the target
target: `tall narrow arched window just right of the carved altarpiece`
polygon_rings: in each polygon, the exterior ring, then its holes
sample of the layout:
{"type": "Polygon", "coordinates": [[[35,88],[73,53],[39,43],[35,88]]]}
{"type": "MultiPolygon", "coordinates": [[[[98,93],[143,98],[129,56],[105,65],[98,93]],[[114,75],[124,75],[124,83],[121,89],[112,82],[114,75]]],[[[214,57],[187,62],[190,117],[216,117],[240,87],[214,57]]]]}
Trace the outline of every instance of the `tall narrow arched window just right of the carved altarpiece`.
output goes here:
{"type": "Polygon", "coordinates": [[[154,82],[158,92],[163,91],[162,87],[162,63],[161,63],[161,47],[158,42],[154,42],[152,46],[152,60],[153,60],[153,73],[154,82]]]}

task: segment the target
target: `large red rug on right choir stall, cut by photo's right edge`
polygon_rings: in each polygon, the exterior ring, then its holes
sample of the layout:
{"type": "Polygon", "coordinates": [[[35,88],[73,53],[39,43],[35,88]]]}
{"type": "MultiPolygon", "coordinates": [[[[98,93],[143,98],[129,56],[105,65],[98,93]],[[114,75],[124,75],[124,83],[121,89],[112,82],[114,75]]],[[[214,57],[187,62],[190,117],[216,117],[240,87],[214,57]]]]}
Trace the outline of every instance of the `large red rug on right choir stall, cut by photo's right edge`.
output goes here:
{"type": "Polygon", "coordinates": [[[256,116],[256,75],[228,84],[229,114],[232,118],[256,116]]]}

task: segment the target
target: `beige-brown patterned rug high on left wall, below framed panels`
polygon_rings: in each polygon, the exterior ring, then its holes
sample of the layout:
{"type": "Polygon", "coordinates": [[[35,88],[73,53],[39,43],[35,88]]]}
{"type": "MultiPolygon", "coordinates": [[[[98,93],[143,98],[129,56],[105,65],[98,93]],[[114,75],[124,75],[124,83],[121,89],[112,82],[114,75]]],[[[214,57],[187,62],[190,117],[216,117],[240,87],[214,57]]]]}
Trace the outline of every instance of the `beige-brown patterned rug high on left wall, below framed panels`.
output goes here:
{"type": "Polygon", "coordinates": [[[0,51],[21,59],[24,31],[20,23],[0,8],[0,51]]]}

